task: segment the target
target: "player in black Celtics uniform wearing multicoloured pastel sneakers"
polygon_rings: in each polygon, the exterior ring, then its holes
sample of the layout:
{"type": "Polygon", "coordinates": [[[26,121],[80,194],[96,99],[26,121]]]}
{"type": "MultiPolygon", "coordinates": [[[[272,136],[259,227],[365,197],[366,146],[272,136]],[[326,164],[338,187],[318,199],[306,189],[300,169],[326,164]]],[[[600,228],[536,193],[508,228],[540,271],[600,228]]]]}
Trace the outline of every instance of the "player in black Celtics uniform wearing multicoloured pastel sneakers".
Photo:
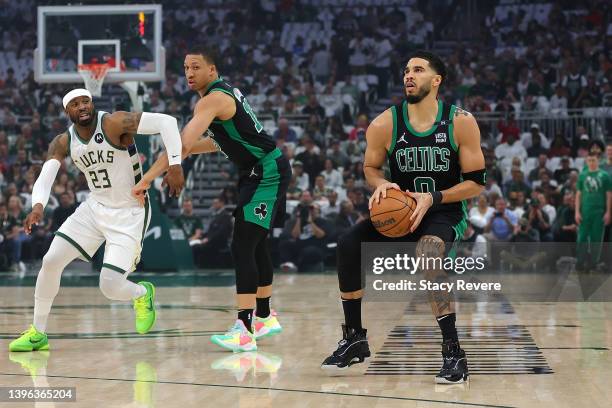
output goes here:
{"type": "MultiPolygon", "coordinates": [[[[282,330],[270,310],[273,266],[268,231],[284,225],[291,167],[246,97],[219,76],[211,50],[192,48],[184,68],[190,89],[201,99],[183,128],[183,157],[220,151],[239,170],[232,239],[238,319],[227,333],[213,335],[211,341],[232,351],[254,351],[256,338],[282,330]]],[[[168,157],[162,155],[134,187],[134,194],[142,196],[167,167],[168,157]]],[[[168,182],[171,192],[180,190],[168,182]]]]}

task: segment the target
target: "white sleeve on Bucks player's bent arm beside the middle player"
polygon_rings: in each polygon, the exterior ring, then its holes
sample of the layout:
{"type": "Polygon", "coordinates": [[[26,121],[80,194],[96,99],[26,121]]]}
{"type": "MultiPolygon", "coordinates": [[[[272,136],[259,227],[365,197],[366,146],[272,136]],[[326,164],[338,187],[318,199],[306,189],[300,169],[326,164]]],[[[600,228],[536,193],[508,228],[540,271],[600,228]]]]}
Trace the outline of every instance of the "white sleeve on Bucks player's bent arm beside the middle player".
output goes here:
{"type": "Polygon", "coordinates": [[[173,166],[181,164],[181,134],[178,130],[176,118],[163,113],[143,112],[138,124],[137,133],[154,135],[159,133],[166,147],[168,163],[173,166]]]}

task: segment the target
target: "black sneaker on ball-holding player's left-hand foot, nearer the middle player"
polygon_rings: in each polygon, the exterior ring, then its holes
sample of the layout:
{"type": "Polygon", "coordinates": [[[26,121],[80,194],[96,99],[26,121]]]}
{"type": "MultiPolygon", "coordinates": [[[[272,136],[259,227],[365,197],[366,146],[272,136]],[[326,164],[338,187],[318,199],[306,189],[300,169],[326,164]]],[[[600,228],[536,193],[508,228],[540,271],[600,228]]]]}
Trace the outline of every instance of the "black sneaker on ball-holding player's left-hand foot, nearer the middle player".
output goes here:
{"type": "Polygon", "coordinates": [[[346,370],[353,364],[363,363],[370,358],[370,346],[366,339],[366,329],[355,330],[342,325],[342,340],[338,349],[323,361],[323,370],[346,370]]]}

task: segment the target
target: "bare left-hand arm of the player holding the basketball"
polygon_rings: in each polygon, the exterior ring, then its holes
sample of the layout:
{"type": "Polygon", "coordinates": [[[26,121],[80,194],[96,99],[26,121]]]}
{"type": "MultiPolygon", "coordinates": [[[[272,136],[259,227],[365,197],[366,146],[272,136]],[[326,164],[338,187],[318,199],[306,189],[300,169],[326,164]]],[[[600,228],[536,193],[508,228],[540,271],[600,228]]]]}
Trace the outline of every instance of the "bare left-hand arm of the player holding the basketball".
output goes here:
{"type": "Polygon", "coordinates": [[[363,172],[366,181],[374,189],[372,197],[370,197],[369,208],[372,209],[374,201],[380,202],[380,198],[387,197],[387,190],[392,188],[401,191],[400,187],[385,179],[385,173],[382,169],[387,158],[388,144],[391,141],[391,133],[393,132],[393,118],[391,111],[378,115],[366,131],[366,151],[363,163],[363,172]]]}

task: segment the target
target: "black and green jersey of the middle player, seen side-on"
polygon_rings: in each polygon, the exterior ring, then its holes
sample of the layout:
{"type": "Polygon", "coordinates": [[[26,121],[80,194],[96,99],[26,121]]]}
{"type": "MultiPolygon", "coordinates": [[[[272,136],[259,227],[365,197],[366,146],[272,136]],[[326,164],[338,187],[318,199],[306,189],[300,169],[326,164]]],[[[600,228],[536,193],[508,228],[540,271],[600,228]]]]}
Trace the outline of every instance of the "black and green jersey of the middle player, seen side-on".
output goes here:
{"type": "Polygon", "coordinates": [[[253,109],[238,88],[222,79],[211,83],[205,96],[223,92],[236,101],[236,114],[228,120],[215,118],[207,135],[210,136],[229,160],[240,170],[251,169],[264,156],[276,148],[276,143],[259,123],[253,109]]]}

